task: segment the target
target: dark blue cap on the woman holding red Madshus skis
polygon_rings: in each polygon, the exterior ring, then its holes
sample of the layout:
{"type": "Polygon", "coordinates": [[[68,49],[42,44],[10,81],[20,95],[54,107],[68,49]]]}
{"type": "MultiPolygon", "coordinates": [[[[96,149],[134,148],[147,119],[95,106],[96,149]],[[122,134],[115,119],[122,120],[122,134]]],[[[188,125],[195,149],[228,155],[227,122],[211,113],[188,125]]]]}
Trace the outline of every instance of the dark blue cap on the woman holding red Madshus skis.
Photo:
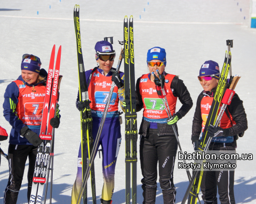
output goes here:
{"type": "Polygon", "coordinates": [[[35,55],[24,54],[21,62],[21,70],[29,70],[31,72],[36,72],[39,74],[41,64],[42,63],[39,57],[35,55]],[[31,58],[33,58],[34,60],[31,60],[31,58]]]}

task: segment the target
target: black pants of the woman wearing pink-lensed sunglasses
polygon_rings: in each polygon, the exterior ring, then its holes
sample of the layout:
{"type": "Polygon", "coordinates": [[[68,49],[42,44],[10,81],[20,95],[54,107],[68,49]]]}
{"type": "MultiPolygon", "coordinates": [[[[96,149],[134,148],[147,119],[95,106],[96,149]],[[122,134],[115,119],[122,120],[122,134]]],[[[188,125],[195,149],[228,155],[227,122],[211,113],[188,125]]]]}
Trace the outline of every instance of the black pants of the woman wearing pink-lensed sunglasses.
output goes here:
{"type": "MultiPolygon", "coordinates": [[[[235,143],[218,143],[210,145],[210,150],[222,150],[228,153],[229,150],[235,150],[235,143]]],[[[205,171],[202,177],[201,191],[202,199],[205,204],[218,204],[217,186],[221,204],[235,204],[234,196],[234,171],[205,171]]]]}

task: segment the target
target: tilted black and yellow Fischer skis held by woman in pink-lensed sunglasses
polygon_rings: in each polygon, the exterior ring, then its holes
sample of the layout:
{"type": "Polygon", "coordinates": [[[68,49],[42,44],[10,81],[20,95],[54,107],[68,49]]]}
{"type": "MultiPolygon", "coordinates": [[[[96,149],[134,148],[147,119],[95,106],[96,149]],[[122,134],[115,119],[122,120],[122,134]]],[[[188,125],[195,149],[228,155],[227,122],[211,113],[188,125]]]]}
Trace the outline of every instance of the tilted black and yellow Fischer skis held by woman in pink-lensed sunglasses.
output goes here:
{"type": "MultiPolygon", "coordinates": [[[[212,138],[207,137],[207,129],[210,124],[211,125],[216,124],[221,99],[223,97],[223,93],[225,91],[225,87],[227,84],[227,77],[228,77],[228,72],[230,70],[230,64],[231,64],[231,53],[229,52],[227,54],[227,52],[226,52],[225,61],[222,66],[217,90],[216,90],[216,93],[213,98],[210,113],[207,117],[204,132],[203,132],[203,135],[201,138],[201,143],[198,147],[198,150],[201,152],[204,151],[205,154],[206,154],[206,152],[210,146],[210,143],[212,141],[212,138]]],[[[200,170],[198,169],[197,171],[193,172],[193,176],[191,178],[191,181],[189,182],[189,186],[188,186],[185,196],[183,197],[183,200],[181,202],[182,204],[185,204],[187,198],[188,198],[188,203],[191,203],[191,204],[197,203],[197,196],[199,193],[202,176],[203,176],[203,172],[204,172],[203,163],[205,163],[205,160],[199,161],[199,164],[201,164],[201,169],[200,170]]]]}

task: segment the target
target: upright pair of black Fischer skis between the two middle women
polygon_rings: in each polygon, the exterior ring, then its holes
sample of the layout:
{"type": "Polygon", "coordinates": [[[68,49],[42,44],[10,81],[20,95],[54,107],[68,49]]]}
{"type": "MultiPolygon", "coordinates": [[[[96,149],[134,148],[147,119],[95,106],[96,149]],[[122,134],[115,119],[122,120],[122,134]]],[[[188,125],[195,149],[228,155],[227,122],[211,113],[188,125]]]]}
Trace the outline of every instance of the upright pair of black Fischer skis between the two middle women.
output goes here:
{"type": "Polygon", "coordinates": [[[124,18],[125,203],[137,203],[137,113],[135,98],[133,16],[124,18]],[[132,164],[132,171],[131,171],[132,164]],[[131,194],[132,180],[132,194],[131,194]]]}

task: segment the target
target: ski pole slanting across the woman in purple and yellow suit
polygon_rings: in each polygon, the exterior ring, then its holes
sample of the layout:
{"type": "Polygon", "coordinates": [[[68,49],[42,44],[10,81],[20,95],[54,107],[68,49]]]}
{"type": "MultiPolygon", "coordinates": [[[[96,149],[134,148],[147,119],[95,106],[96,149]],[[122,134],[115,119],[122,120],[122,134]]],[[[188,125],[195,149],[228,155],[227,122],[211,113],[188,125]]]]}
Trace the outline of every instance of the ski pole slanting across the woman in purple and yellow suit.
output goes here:
{"type": "MultiPolygon", "coordinates": [[[[119,44],[121,44],[121,43],[119,42],[119,44]]],[[[121,54],[119,56],[118,64],[117,64],[117,67],[116,67],[116,72],[119,71],[122,60],[123,60],[123,45],[122,45],[122,49],[121,49],[121,54]]],[[[94,160],[94,158],[96,156],[97,147],[98,147],[99,141],[100,141],[100,135],[101,135],[101,132],[102,132],[103,124],[104,124],[105,119],[106,119],[108,107],[109,107],[110,100],[111,100],[111,97],[112,97],[115,86],[116,86],[116,84],[114,82],[112,82],[111,88],[110,88],[110,91],[109,91],[109,95],[108,95],[108,99],[107,99],[107,103],[106,103],[106,106],[105,106],[105,109],[104,109],[104,112],[103,112],[103,115],[102,115],[102,118],[101,118],[101,121],[100,121],[100,127],[99,127],[99,130],[97,132],[95,143],[94,143],[93,148],[92,148],[92,155],[91,155],[91,158],[89,160],[89,166],[87,166],[87,168],[86,168],[86,172],[85,172],[84,179],[83,179],[83,184],[82,184],[81,190],[80,190],[79,195],[78,195],[77,204],[81,203],[81,199],[82,199],[81,194],[83,194],[84,186],[86,185],[87,180],[89,178],[89,174],[90,174],[90,171],[91,171],[91,163],[92,163],[92,161],[94,160]]]]}

